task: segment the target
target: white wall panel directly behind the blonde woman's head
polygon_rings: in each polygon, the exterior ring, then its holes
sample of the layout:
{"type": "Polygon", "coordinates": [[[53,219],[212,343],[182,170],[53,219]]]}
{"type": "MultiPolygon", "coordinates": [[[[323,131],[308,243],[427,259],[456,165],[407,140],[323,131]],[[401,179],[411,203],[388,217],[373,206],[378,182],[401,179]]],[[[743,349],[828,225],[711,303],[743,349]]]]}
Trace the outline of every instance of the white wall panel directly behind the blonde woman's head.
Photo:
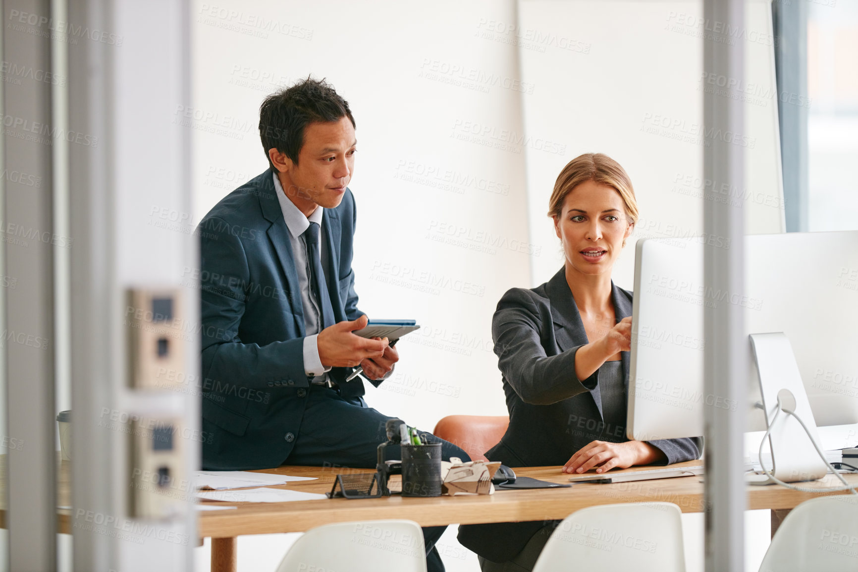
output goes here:
{"type": "MultiPolygon", "coordinates": [[[[546,216],[548,198],[565,162],[582,153],[606,153],[629,173],[640,210],[629,246],[642,238],[704,234],[703,151],[712,138],[703,127],[704,88],[728,81],[704,78],[704,35],[744,41],[746,50],[746,132],[740,138],[746,188],[728,192],[728,200],[745,201],[750,233],[782,232],[770,2],[752,0],[746,11],[744,28],[720,33],[710,31],[720,31],[720,22],[699,23],[702,0],[521,3],[514,33],[525,39],[523,80],[537,87],[524,100],[527,134],[568,149],[566,158],[527,151],[531,240],[547,253],[534,261],[534,284],[562,265],[546,216]]],[[[613,274],[631,289],[633,247],[613,274]]]]}

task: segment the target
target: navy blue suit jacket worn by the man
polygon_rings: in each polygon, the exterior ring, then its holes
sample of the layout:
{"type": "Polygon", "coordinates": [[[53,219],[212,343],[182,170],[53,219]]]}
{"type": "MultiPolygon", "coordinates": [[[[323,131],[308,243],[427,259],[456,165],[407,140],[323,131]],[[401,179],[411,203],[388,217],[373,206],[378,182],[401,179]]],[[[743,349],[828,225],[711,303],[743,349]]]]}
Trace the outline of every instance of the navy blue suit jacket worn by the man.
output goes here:
{"type": "MultiPolygon", "coordinates": [[[[336,321],[357,319],[354,198],[322,218],[323,269],[336,321]]],[[[197,228],[202,300],[202,466],[279,466],[301,430],[307,387],[304,311],[272,172],[223,198],[197,228]]],[[[344,397],[363,395],[334,368],[344,397]]]]}

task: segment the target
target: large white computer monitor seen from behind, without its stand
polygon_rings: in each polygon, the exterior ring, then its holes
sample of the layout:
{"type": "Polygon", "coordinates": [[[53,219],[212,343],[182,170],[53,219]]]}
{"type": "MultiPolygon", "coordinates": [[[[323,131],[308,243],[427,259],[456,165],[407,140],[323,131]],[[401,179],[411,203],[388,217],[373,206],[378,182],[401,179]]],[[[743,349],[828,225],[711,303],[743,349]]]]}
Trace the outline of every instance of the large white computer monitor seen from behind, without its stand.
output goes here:
{"type": "Polygon", "coordinates": [[[747,236],[743,292],[706,288],[703,259],[700,238],[637,242],[627,436],[703,435],[706,406],[749,407],[746,430],[765,429],[752,353],[747,403],[704,392],[704,306],[718,304],[745,308],[746,339],[786,334],[817,425],[858,423],[858,232],[747,236]]]}

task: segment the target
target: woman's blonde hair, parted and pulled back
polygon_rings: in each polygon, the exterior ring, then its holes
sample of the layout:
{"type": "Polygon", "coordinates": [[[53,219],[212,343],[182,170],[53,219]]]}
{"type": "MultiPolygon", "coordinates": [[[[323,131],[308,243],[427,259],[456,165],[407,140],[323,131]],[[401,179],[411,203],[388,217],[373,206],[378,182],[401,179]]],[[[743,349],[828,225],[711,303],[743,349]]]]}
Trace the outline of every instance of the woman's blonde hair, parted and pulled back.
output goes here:
{"type": "Polygon", "coordinates": [[[572,190],[593,180],[602,185],[610,186],[625,204],[625,216],[634,224],[637,222],[637,199],[631,186],[631,179],[625,169],[617,161],[603,153],[584,153],[578,155],[563,167],[554,183],[554,191],[548,200],[548,216],[560,216],[563,213],[563,202],[572,190]]]}

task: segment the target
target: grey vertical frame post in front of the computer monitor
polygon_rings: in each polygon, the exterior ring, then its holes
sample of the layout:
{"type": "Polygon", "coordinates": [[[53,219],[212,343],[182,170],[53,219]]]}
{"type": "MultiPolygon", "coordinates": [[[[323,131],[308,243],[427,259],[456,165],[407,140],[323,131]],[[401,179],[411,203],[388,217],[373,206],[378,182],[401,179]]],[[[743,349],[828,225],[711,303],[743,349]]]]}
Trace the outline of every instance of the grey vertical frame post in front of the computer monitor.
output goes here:
{"type": "MultiPolygon", "coordinates": [[[[745,2],[704,0],[704,71],[744,84],[745,2]]],[[[715,181],[705,189],[704,284],[707,291],[728,291],[726,297],[707,295],[704,301],[705,392],[735,403],[735,411],[705,410],[705,514],[706,571],[736,572],[744,569],[743,433],[745,431],[746,376],[749,342],[744,337],[744,308],[730,303],[744,286],[744,201],[719,203],[716,189],[722,185],[744,187],[745,148],[739,142],[744,129],[743,103],[735,97],[704,92],[704,178],[715,181]],[[709,290],[711,289],[711,290],[709,290]],[[710,307],[714,306],[714,307],[710,307]]],[[[716,400],[707,400],[707,403],[716,400]]],[[[717,403],[723,403],[720,399],[717,403]]]]}

